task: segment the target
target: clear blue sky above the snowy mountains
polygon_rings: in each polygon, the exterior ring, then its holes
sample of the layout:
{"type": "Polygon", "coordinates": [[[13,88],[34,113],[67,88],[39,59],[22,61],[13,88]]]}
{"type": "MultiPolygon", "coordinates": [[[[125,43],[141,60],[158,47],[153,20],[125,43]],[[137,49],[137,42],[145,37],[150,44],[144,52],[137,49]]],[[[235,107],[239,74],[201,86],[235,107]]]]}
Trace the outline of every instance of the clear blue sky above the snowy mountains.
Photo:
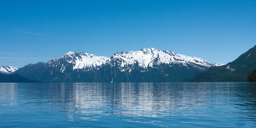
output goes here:
{"type": "Polygon", "coordinates": [[[256,1],[1,1],[0,66],[154,47],[228,63],[256,44],[256,1]]]}

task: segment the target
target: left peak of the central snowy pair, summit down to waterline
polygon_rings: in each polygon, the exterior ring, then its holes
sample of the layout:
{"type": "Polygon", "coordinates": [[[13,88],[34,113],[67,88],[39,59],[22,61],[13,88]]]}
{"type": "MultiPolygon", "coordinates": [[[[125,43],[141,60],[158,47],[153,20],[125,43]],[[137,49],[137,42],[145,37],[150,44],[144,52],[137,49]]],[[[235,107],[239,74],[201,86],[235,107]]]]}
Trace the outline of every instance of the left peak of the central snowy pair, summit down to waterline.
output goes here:
{"type": "Polygon", "coordinates": [[[86,81],[86,79],[89,78],[87,77],[89,72],[94,73],[95,70],[101,68],[107,60],[109,60],[108,57],[98,57],[97,55],[85,52],[68,52],[62,57],[52,59],[46,63],[38,62],[29,64],[15,71],[15,74],[38,79],[43,82],[86,81]],[[82,80],[78,81],[77,79],[80,78],[82,80]]]}

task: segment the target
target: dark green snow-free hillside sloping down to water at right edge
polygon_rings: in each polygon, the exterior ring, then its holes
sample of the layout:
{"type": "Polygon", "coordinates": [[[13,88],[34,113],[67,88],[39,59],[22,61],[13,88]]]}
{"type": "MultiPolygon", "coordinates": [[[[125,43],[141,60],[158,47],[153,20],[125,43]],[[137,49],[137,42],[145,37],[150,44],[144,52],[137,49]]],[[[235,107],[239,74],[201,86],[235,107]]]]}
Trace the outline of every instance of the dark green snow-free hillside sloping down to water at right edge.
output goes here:
{"type": "Polygon", "coordinates": [[[233,62],[211,67],[186,79],[190,82],[246,82],[247,75],[256,68],[256,45],[233,62]]]}

